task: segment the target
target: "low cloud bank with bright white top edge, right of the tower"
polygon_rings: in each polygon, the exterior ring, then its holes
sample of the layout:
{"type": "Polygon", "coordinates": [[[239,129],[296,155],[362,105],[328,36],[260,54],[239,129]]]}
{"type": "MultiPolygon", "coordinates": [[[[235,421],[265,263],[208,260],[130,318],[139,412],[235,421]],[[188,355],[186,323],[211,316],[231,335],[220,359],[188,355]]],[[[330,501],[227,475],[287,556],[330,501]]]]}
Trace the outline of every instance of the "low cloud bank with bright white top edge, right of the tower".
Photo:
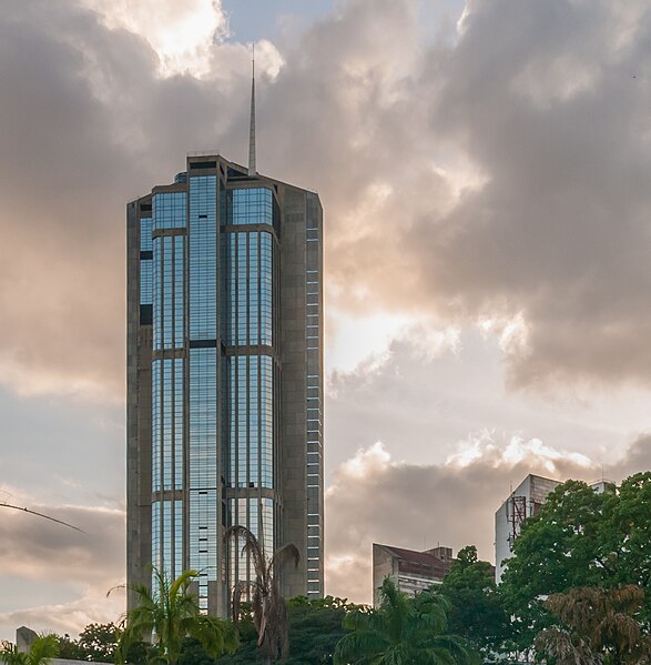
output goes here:
{"type": "MultiPolygon", "coordinates": [[[[607,476],[619,482],[651,468],[649,442],[649,435],[635,441],[607,476]]],[[[326,493],[327,593],[370,602],[373,543],[417,551],[440,544],[455,552],[474,544],[494,561],[495,512],[529,473],[590,482],[601,470],[539,440],[513,436],[500,444],[486,432],[461,442],[443,464],[396,461],[382,442],[358,449],[326,493]]]]}

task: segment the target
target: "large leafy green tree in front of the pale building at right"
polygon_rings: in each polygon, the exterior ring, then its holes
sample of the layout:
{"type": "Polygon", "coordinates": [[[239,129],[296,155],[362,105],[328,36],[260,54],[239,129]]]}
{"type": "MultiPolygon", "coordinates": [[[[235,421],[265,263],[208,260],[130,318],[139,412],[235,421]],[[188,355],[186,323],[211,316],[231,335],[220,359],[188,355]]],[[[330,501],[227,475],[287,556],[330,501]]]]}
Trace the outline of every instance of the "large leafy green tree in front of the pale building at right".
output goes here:
{"type": "MultiPolygon", "coordinates": [[[[543,599],[573,587],[651,582],[651,473],[635,474],[618,491],[596,493],[568,481],[522,524],[500,585],[520,647],[550,623],[543,599]]],[[[651,618],[647,594],[641,613],[651,618]]]]}

